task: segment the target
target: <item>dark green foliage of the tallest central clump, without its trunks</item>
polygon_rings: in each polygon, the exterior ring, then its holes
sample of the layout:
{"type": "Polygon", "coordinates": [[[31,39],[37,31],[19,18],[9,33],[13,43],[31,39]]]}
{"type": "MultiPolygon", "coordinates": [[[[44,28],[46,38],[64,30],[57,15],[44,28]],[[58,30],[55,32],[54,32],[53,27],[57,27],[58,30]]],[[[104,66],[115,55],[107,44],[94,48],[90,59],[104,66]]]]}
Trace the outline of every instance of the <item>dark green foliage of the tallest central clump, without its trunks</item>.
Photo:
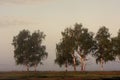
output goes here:
{"type": "MultiPolygon", "coordinates": [[[[62,32],[62,39],[56,45],[57,53],[55,62],[60,66],[68,63],[73,64],[72,54],[76,50],[81,57],[85,57],[93,50],[95,41],[93,40],[93,33],[89,32],[87,28],[83,28],[82,24],[75,24],[74,29],[66,28],[62,32]]],[[[78,64],[77,60],[77,64],[78,64]]]]}

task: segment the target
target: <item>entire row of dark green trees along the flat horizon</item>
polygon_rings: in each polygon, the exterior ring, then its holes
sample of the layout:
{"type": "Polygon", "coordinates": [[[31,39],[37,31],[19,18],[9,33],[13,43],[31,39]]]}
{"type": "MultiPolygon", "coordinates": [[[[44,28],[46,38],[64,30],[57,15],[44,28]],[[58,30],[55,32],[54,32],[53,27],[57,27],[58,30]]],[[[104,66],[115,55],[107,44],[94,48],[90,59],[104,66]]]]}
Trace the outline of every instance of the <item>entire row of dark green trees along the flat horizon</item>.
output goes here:
{"type": "MultiPolygon", "coordinates": [[[[108,61],[120,60],[120,30],[116,37],[111,37],[109,29],[105,26],[99,28],[97,33],[90,32],[82,24],[76,23],[73,28],[66,28],[61,32],[62,38],[56,44],[55,63],[60,67],[72,65],[74,71],[80,65],[81,71],[85,71],[88,55],[96,59],[103,70],[103,64],[108,61]]],[[[14,57],[17,65],[36,67],[42,64],[48,56],[46,46],[42,44],[45,39],[43,32],[22,30],[13,37],[14,57]]]]}

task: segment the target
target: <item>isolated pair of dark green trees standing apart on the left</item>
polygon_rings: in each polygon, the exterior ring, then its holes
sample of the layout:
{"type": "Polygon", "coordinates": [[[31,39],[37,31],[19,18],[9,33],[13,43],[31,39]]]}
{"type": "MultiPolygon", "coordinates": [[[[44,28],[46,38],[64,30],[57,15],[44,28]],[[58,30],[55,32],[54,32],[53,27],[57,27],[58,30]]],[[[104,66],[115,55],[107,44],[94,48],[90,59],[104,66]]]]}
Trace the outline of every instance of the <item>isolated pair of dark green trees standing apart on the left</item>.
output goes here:
{"type": "Polygon", "coordinates": [[[29,30],[22,30],[17,36],[14,36],[12,45],[16,64],[25,65],[29,71],[29,67],[41,63],[41,60],[47,56],[45,46],[41,45],[44,38],[43,32],[38,31],[30,35],[29,30]]]}

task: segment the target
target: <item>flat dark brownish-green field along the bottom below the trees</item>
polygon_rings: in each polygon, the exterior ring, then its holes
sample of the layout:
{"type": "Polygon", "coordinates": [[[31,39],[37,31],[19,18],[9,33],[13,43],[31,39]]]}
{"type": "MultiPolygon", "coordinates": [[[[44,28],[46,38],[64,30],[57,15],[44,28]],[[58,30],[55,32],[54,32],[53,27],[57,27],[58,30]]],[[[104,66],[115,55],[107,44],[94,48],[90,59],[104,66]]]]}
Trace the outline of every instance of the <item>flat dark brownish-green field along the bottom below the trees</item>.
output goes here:
{"type": "Polygon", "coordinates": [[[120,80],[120,71],[0,72],[0,80],[120,80]]]}

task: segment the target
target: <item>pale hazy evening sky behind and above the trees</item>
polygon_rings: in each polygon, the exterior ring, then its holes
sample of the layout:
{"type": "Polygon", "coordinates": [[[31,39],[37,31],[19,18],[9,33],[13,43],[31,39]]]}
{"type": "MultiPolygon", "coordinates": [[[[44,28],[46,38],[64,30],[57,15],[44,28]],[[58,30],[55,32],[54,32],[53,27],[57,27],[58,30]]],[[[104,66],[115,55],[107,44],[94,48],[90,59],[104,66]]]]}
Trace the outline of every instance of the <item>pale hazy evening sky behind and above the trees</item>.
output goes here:
{"type": "MultiPolygon", "coordinates": [[[[44,44],[49,56],[38,70],[64,70],[54,64],[61,31],[78,22],[93,32],[104,25],[115,36],[120,29],[119,21],[120,0],[0,0],[0,71],[24,70],[15,65],[11,45],[13,36],[23,29],[39,29],[47,35],[44,44]]],[[[99,70],[90,59],[87,70],[99,70]]],[[[109,62],[105,69],[120,70],[120,63],[109,62]]]]}

